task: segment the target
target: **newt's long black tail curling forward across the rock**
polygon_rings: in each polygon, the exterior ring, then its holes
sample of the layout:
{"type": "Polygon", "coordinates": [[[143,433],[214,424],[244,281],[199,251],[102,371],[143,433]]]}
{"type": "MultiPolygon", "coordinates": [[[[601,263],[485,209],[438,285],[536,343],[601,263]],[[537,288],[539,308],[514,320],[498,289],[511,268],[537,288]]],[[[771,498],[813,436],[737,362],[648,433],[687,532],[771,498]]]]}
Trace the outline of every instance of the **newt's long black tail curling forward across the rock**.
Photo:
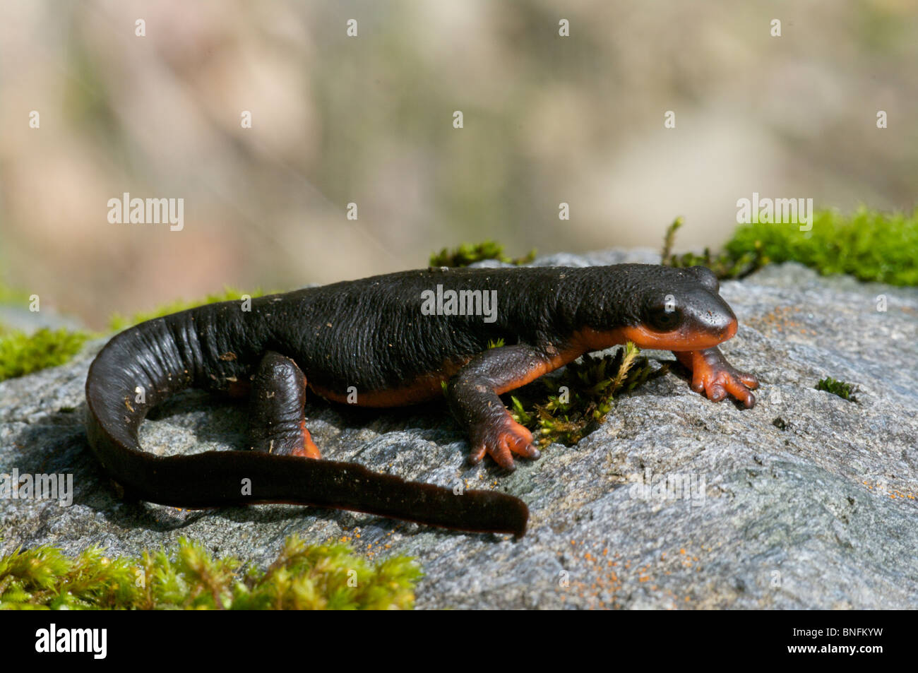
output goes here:
{"type": "MultiPolygon", "coordinates": [[[[425,523],[461,531],[526,531],[522,500],[486,490],[453,493],[409,482],[362,465],[251,451],[208,451],[157,456],[140,448],[138,431],[147,412],[187,387],[202,386],[215,354],[261,346],[232,339],[233,330],[210,333],[220,305],[184,311],[123,331],[96,356],[86,377],[86,429],[106,472],[131,496],[163,505],[207,508],[285,502],[425,523]],[[240,346],[243,343],[245,345],[240,346]],[[140,400],[140,401],[138,401],[140,400]]],[[[225,323],[224,323],[225,327],[225,323]]],[[[238,365],[238,363],[237,363],[238,365]]]]}

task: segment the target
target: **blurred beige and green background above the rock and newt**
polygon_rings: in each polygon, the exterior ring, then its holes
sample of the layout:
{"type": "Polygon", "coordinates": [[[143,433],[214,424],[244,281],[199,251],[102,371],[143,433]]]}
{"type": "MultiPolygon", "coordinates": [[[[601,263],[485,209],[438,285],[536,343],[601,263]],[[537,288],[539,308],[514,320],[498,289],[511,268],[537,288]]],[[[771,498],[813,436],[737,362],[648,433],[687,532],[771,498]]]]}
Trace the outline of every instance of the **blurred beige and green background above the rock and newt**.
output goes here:
{"type": "Polygon", "coordinates": [[[681,215],[677,249],[716,247],[753,192],[911,210],[916,186],[914,0],[0,7],[0,280],[94,328],[485,238],[656,248],[681,215]],[[124,192],[184,198],[184,229],[110,223],[124,192]]]}

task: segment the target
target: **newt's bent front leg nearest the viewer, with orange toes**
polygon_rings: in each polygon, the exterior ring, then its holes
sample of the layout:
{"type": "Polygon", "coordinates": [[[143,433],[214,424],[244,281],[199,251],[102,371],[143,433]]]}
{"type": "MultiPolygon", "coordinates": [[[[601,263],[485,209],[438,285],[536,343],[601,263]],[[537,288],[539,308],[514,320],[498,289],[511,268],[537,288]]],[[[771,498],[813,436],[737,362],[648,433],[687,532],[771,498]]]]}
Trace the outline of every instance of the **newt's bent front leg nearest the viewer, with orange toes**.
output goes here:
{"type": "Polygon", "coordinates": [[[476,355],[447,390],[453,415],[468,431],[475,464],[487,453],[501,467],[515,468],[513,455],[538,458],[529,432],[514,421],[498,395],[524,386],[559,366],[555,359],[525,344],[491,348],[476,355]]]}

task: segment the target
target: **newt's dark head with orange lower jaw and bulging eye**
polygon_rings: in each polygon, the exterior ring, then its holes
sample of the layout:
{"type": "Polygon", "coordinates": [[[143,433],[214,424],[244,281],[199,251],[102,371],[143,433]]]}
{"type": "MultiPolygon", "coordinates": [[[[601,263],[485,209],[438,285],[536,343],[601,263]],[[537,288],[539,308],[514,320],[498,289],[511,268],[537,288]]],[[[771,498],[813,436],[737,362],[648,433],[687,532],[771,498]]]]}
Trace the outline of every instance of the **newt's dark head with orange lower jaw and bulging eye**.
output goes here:
{"type": "Polygon", "coordinates": [[[589,341],[700,351],[736,333],[736,316],[718,294],[720,284],[711,269],[624,264],[621,274],[615,281],[627,288],[626,295],[602,302],[605,329],[591,325],[589,341]]]}

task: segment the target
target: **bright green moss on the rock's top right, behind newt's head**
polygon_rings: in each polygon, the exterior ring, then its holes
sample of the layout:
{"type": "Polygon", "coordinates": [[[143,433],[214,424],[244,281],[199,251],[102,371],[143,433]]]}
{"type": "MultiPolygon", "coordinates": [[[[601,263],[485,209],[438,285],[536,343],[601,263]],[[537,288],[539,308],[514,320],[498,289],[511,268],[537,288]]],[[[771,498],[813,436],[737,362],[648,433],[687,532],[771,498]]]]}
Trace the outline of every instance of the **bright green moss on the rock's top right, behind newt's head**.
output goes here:
{"type": "Polygon", "coordinates": [[[823,275],[895,286],[918,285],[918,209],[911,215],[858,208],[851,215],[820,210],[812,230],[798,224],[746,224],[733,233],[733,259],[755,251],[761,263],[800,262],[823,275]]]}

